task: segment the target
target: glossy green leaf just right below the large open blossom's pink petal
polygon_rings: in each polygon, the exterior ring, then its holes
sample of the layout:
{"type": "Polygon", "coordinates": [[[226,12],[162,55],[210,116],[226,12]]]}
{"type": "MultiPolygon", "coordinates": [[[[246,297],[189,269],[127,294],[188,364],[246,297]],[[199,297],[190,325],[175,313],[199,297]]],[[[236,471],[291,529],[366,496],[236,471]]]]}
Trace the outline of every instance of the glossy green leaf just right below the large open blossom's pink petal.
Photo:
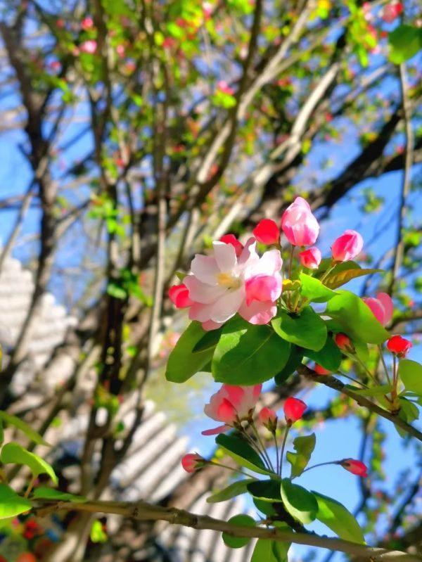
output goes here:
{"type": "Polygon", "coordinates": [[[278,336],[309,350],[318,351],[327,339],[327,328],[311,307],[305,307],[300,316],[281,311],[271,320],[278,336]]]}

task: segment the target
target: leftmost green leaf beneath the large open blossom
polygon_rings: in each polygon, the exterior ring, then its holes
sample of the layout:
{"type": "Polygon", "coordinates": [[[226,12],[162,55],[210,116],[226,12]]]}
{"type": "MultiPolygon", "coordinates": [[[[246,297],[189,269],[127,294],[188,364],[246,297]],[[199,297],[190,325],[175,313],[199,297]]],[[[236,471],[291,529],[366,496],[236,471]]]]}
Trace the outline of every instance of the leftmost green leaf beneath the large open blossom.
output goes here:
{"type": "Polygon", "coordinates": [[[165,371],[167,381],[184,383],[210,362],[214,348],[193,352],[193,348],[205,333],[199,322],[194,321],[189,324],[170,353],[165,371]]]}

